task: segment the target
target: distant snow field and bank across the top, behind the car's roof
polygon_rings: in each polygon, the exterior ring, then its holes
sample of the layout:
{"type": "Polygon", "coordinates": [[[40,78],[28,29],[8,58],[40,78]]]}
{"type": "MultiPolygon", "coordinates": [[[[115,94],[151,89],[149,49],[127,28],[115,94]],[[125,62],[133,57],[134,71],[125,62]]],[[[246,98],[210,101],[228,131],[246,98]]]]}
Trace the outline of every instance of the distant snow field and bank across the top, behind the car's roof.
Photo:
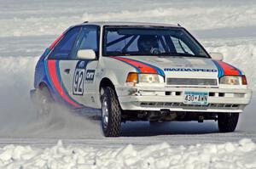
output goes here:
{"type": "Polygon", "coordinates": [[[56,35],[85,20],[180,23],[190,30],[256,25],[253,0],[10,0],[0,5],[0,37],[56,35]]]}

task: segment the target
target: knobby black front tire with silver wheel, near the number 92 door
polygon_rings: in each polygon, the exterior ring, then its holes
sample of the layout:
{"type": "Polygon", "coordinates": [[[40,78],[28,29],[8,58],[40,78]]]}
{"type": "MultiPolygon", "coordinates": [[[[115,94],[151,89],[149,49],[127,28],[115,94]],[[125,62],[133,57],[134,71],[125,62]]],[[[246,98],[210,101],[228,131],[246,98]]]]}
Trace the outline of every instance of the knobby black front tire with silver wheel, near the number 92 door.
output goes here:
{"type": "Polygon", "coordinates": [[[121,127],[121,108],[112,87],[102,94],[102,131],[105,137],[118,137],[121,127]],[[106,116],[108,114],[108,116],[106,116]]]}

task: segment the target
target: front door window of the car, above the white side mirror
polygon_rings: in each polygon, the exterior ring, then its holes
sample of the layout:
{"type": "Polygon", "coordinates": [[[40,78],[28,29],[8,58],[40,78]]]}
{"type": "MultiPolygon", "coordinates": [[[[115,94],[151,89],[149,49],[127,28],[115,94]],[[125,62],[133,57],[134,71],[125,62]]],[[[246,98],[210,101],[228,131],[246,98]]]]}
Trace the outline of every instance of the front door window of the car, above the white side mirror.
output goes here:
{"type": "Polygon", "coordinates": [[[99,54],[99,27],[96,25],[85,25],[80,31],[78,41],[75,42],[71,57],[77,58],[78,51],[81,49],[92,49],[99,54]]]}

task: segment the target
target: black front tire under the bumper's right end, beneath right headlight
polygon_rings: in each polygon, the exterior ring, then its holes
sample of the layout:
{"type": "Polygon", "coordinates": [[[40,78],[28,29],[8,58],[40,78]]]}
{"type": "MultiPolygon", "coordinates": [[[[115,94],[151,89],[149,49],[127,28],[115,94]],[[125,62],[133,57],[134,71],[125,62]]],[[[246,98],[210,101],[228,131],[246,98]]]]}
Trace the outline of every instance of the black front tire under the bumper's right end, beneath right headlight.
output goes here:
{"type": "Polygon", "coordinates": [[[238,119],[239,113],[218,113],[218,131],[234,132],[238,119]]]}

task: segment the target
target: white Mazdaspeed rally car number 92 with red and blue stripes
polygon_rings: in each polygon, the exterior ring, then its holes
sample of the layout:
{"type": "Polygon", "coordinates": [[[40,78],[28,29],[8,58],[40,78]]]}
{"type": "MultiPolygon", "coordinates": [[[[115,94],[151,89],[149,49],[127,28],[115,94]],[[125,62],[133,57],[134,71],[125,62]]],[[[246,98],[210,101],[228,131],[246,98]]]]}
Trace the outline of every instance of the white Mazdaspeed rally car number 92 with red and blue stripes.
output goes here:
{"type": "Polygon", "coordinates": [[[246,76],[179,25],[84,22],[38,60],[32,99],[102,110],[102,131],[119,136],[122,121],[218,120],[236,129],[252,91],[246,76]]]}

